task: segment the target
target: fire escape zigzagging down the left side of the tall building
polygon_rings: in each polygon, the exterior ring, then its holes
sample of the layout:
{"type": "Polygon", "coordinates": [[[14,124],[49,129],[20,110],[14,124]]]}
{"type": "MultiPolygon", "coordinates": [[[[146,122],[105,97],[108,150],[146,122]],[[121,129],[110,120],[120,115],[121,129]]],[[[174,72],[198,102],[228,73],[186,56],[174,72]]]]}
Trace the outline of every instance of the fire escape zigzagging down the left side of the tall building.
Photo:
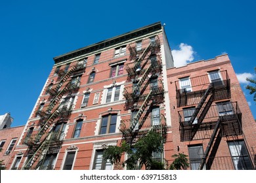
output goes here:
{"type": "Polygon", "coordinates": [[[28,150],[25,156],[28,156],[28,161],[24,169],[37,169],[44,160],[47,152],[59,150],[63,134],[61,131],[54,131],[54,125],[59,122],[65,122],[70,116],[73,105],[72,103],[60,103],[62,96],[67,95],[70,97],[73,92],[79,89],[79,81],[74,82],[71,76],[77,72],[84,71],[85,64],[77,62],[71,69],[64,71],[63,69],[57,71],[58,75],[57,84],[47,89],[50,94],[49,105],[46,105],[41,110],[37,110],[36,114],[40,117],[39,125],[41,126],[38,133],[32,135],[30,139],[26,139],[24,144],[28,145],[28,150]],[[52,127],[52,128],[51,128],[52,127]],[[39,157],[41,157],[39,159],[39,157]],[[32,166],[36,161],[39,161],[35,167],[32,166]]]}

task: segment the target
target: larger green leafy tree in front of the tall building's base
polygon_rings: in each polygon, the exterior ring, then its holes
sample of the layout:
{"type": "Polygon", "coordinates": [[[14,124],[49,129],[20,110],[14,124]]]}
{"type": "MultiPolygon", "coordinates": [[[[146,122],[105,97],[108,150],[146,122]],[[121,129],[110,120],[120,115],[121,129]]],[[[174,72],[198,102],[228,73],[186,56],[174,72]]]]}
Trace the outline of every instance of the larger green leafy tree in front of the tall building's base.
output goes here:
{"type": "Polygon", "coordinates": [[[163,163],[156,161],[152,157],[153,152],[163,152],[163,141],[159,133],[148,131],[147,135],[140,138],[133,146],[123,142],[121,146],[108,146],[104,149],[104,161],[110,160],[111,163],[121,163],[121,156],[128,154],[126,161],[122,162],[127,169],[164,169],[163,163]]]}

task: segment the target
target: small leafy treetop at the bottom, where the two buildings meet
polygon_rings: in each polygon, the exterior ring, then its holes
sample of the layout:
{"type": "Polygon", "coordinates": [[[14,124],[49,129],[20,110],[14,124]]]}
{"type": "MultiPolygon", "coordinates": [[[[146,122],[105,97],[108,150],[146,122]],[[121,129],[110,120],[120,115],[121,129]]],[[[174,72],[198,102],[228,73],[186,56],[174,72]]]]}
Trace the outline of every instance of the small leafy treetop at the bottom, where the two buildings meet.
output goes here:
{"type": "Polygon", "coordinates": [[[175,159],[169,167],[170,170],[182,170],[189,167],[187,155],[183,153],[179,153],[179,154],[174,154],[171,157],[175,159]]]}

